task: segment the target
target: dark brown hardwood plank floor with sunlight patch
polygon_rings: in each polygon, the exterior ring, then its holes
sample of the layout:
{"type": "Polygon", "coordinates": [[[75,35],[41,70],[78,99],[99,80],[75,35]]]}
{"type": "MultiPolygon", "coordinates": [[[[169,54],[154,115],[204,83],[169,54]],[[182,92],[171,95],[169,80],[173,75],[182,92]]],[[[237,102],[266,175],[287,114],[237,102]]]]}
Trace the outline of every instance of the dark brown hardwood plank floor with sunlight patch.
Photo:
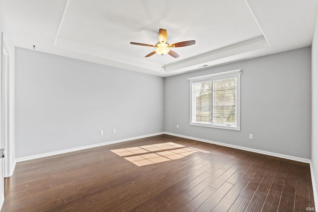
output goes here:
{"type": "Polygon", "coordinates": [[[309,164],[160,135],[19,162],[5,178],[1,211],[302,212],[313,207],[309,164]]]}

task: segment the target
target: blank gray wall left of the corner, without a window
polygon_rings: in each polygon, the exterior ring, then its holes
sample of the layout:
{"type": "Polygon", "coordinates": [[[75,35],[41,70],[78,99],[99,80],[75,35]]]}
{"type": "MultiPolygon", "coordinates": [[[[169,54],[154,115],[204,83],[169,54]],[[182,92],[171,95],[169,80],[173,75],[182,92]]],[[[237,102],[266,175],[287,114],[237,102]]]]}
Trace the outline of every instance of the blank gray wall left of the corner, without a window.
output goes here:
{"type": "Polygon", "coordinates": [[[17,158],[163,132],[162,77],[22,48],[15,57],[17,158]]]}

